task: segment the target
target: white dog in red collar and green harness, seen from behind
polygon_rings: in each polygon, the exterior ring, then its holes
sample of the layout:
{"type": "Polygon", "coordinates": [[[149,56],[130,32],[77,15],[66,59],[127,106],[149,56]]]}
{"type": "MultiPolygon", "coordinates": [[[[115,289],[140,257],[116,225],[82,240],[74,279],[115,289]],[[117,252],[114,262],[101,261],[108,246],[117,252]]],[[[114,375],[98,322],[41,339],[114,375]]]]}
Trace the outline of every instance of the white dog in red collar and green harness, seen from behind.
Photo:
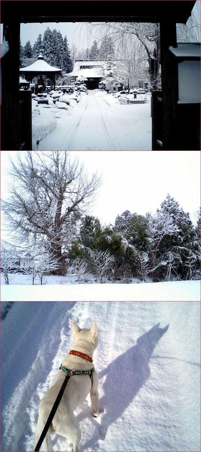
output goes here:
{"type": "MultiPolygon", "coordinates": [[[[98,346],[98,328],[96,323],[93,323],[91,330],[79,328],[79,325],[73,320],[72,333],[75,341],[73,345],[72,354],[66,356],[62,362],[62,367],[69,371],[89,371],[93,368],[92,357],[93,351],[98,346]],[[75,354],[74,353],[78,353],[75,354]],[[79,356],[80,354],[80,356],[79,356]],[[83,359],[85,355],[86,358],[83,359]],[[90,358],[90,359],[89,359],[90,358]]],[[[71,353],[71,351],[70,351],[71,353]]],[[[52,381],[52,385],[39,404],[39,416],[36,426],[35,446],[41,436],[42,430],[46,424],[47,418],[50,414],[51,408],[56,400],[61,385],[66,378],[66,373],[62,369],[56,374],[52,381]]],[[[69,378],[68,384],[65,388],[64,395],[61,399],[60,405],[52,420],[51,428],[49,428],[47,435],[42,443],[44,451],[51,451],[51,436],[50,431],[65,436],[73,443],[73,451],[79,451],[78,444],[81,438],[79,423],[73,414],[78,405],[81,405],[86,396],[89,394],[93,407],[93,416],[99,416],[98,410],[98,374],[93,372],[93,386],[90,375],[73,375],[69,378]]],[[[33,450],[34,450],[33,449],[33,450]]]]}

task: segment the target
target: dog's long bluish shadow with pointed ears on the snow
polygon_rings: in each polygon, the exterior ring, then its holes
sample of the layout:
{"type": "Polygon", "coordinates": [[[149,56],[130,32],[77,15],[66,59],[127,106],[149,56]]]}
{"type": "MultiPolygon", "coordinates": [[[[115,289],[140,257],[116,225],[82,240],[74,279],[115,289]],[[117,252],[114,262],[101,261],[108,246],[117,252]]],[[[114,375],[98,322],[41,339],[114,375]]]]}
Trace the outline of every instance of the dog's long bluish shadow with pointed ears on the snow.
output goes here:
{"type": "MultiPolygon", "coordinates": [[[[169,325],[165,328],[159,328],[159,323],[147,333],[137,339],[134,347],[129,348],[125,353],[118,356],[112,363],[108,365],[102,372],[98,372],[99,380],[106,376],[103,383],[104,395],[99,400],[99,406],[104,407],[100,410],[101,422],[93,419],[99,432],[97,437],[97,429],[95,428],[93,440],[104,439],[110,424],[115,422],[122,416],[126,408],[131,404],[140,388],[150,377],[149,361],[154,348],[168,330],[169,325]]],[[[84,417],[91,416],[91,409],[78,414],[77,419],[80,421],[84,417]],[[84,413],[85,412],[85,413],[84,413]]],[[[82,450],[91,447],[92,438],[87,441],[82,450]]]]}

